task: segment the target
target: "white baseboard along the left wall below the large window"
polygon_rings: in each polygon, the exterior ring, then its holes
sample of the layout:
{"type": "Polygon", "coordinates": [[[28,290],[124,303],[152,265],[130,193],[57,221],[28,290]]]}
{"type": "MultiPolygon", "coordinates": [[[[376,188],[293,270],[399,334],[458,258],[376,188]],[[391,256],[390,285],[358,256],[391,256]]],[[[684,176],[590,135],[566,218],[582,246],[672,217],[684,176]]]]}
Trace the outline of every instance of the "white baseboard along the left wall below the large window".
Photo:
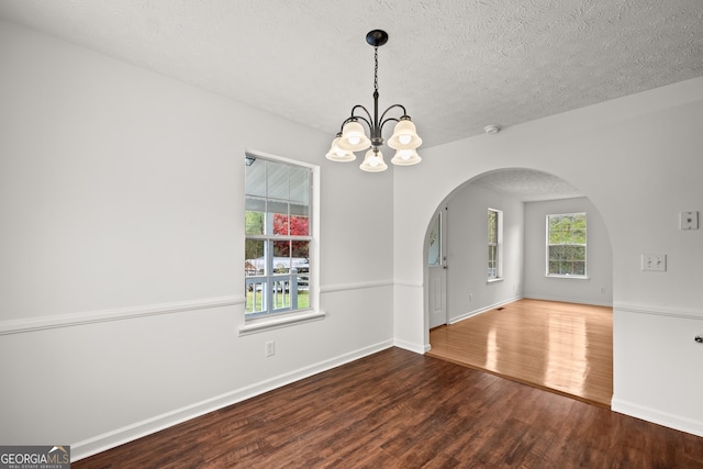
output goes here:
{"type": "Polygon", "coordinates": [[[171,427],[179,423],[187,422],[191,418],[199,417],[219,409],[226,407],[227,405],[236,404],[237,402],[242,402],[274,389],[281,388],[286,384],[290,384],[291,382],[299,381],[319,372],[336,368],[349,361],[366,357],[367,355],[376,354],[377,351],[384,350],[392,346],[392,340],[373,344],[368,347],[364,347],[348,354],[343,354],[337,357],[268,379],[266,381],[254,383],[246,388],[237,389],[225,394],[214,397],[212,399],[187,405],[181,409],[176,409],[171,412],[157,415],[153,418],[135,422],[134,424],[126,425],[112,432],[103,433],[101,435],[97,435],[92,438],[83,439],[82,442],[71,443],[71,462],[114,448],[125,443],[133,442],[135,439],[171,427]]]}

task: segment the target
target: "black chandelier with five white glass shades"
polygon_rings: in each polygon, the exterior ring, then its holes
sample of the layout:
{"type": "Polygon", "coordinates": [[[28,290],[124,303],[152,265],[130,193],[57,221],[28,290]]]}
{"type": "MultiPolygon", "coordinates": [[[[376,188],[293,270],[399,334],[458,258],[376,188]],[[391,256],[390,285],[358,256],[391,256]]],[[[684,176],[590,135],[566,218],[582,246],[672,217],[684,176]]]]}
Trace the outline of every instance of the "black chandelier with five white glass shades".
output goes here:
{"type": "Polygon", "coordinates": [[[416,165],[422,160],[416,152],[416,148],[422,144],[422,138],[417,135],[415,124],[408,115],[405,107],[393,104],[383,111],[380,118],[378,115],[378,48],[388,42],[388,33],[373,30],[366,35],[366,42],[373,46],[373,116],[360,104],[352,108],[352,115],[342,123],[342,129],[325,156],[333,161],[354,161],[356,159],[354,152],[362,152],[370,147],[359,167],[369,172],[384,171],[388,169],[388,165],[383,161],[383,154],[379,148],[383,145],[383,125],[393,121],[397,122],[395,129],[388,141],[388,146],[395,149],[391,163],[399,166],[416,165]],[[387,118],[386,114],[392,110],[402,110],[402,115],[387,118]],[[361,122],[368,126],[370,138],[361,122]]]}

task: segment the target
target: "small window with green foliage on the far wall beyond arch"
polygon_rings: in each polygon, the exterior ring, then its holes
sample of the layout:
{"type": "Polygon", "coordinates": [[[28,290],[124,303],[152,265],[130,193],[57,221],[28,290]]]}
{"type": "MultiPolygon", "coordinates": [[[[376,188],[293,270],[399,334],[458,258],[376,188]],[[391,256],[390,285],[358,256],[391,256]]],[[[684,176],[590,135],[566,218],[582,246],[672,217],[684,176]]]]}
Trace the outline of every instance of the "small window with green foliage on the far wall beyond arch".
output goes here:
{"type": "Polygon", "coordinates": [[[585,213],[547,215],[547,276],[585,273],[585,213]]]}

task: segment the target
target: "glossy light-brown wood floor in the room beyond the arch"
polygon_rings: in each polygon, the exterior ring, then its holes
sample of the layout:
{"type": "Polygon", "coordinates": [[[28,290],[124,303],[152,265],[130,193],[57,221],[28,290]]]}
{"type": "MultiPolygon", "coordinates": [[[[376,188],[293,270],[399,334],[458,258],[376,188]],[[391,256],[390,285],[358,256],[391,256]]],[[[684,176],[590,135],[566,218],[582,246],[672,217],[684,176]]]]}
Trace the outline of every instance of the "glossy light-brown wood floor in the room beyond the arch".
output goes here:
{"type": "Polygon", "coordinates": [[[610,409],[613,310],[520,300],[429,332],[427,355],[610,409]]]}

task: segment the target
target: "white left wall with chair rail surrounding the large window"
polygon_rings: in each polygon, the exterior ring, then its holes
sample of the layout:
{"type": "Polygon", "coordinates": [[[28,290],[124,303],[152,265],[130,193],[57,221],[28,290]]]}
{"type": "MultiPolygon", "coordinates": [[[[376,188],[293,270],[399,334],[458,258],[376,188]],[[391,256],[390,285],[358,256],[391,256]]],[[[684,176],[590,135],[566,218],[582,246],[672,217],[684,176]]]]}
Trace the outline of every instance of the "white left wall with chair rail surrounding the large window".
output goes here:
{"type": "Polygon", "coordinates": [[[2,444],[80,458],[393,344],[392,174],[3,22],[0,69],[2,444]],[[327,316],[239,337],[245,149],[322,166],[327,316]]]}

